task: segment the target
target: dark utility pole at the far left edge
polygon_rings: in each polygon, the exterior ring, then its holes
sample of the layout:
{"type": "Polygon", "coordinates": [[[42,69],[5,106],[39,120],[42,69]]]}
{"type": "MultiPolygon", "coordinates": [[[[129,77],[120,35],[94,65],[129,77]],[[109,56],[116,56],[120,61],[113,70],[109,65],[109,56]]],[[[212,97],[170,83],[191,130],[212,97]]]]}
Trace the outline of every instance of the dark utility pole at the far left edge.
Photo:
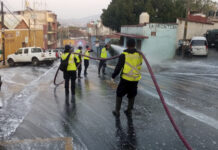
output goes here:
{"type": "Polygon", "coordinates": [[[4,29],[4,4],[1,1],[1,14],[2,14],[2,55],[3,55],[3,65],[5,65],[5,29],[4,29]]]}

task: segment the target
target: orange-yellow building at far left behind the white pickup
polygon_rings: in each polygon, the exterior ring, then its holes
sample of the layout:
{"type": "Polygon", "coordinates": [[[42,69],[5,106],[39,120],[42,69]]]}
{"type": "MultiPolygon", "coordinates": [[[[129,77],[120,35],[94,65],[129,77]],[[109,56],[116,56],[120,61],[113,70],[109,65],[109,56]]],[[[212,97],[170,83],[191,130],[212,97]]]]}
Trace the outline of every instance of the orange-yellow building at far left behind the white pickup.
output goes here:
{"type": "MultiPolygon", "coordinates": [[[[1,17],[0,17],[1,18],[1,17]]],[[[1,21],[1,19],[0,19],[1,21]]],[[[0,30],[2,27],[0,25],[0,30]]],[[[21,15],[5,14],[5,58],[16,52],[21,47],[37,46],[44,47],[44,33],[42,29],[30,29],[28,22],[21,15]],[[16,17],[16,18],[15,18],[16,17]]],[[[0,33],[0,47],[2,49],[2,33],[0,33]]],[[[0,57],[2,60],[2,56],[0,57]]]]}

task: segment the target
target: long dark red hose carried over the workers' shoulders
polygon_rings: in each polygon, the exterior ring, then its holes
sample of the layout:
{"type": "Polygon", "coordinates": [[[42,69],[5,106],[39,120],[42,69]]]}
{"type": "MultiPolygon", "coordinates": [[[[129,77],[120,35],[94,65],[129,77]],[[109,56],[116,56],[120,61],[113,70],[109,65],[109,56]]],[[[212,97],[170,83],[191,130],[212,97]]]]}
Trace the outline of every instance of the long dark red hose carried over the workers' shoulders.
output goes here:
{"type": "MultiPolygon", "coordinates": [[[[172,115],[171,115],[171,113],[170,113],[170,110],[169,110],[169,108],[168,108],[168,106],[167,106],[167,104],[166,104],[166,101],[165,101],[165,99],[164,99],[164,97],[163,97],[163,95],[162,95],[162,92],[161,92],[161,90],[160,90],[160,87],[159,87],[159,85],[158,85],[158,83],[157,83],[157,80],[156,80],[156,78],[155,78],[155,76],[154,76],[154,73],[153,73],[153,71],[152,71],[152,68],[151,68],[151,66],[150,66],[150,64],[149,64],[149,62],[148,62],[148,60],[146,59],[145,55],[144,55],[141,51],[137,51],[137,52],[138,52],[140,55],[142,55],[142,58],[144,59],[144,61],[145,61],[145,63],[146,63],[146,66],[147,66],[148,71],[149,71],[149,73],[150,73],[150,75],[151,75],[151,78],[152,78],[152,80],[153,80],[153,82],[154,82],[155,88],[156,88],[157,93],[158,93],[158,95],[159,95],[159,97],[160,97],[160,100],[161,100],[161,102],[162,102],[162,105],[163,105],[163,107],[164,107],[164,110],[165,110],[165,112],[166,112],[168,118],[170,119],[170,122],[171,122],[171,124],[173,125],[173,127],[174,127],[174,129],[175,129],[177,135],[179,136],[180,140],[183,142],[183,144],[184,144],[184,146],[187,148],[187,150],[192,150],[191,146],[189,145],[189,143],[186,141],[186,139],[185,139],[184,136],[182,135],[181,131],[179,130],[178,126],[176,125],[176,123],[175,123],[175,121],[174,121],[174,119],[173,119],[173,117],[172,117],[172,115]]],[[[119,58],[119,56],[120,56],[120,55],[118,55],[118,56],[114,56],[114,57],[111,57],[111,58],[103,59],[103,58],[94,58],[94,57],[90,57],[90,56],[86,56],[86,55],[84,55],[84,54],[78,54],[78,53],[72,53],[72,54],[80,55],[80,56],[83,56],[83,57],[85,56],[85,57],[88,57],[88,58],[94,59],[94,60],[112,60],[112,59],[119,58]]],[[[55,78],[54,78],[54,84],[55,84],[55,85],[60,85],[60,84],[62,84],[62,82],[59,83],[59,84],[56,84],[56,78],[57,78],[58,72],[59,72],[59,68],[58,68],[58,70],[57,70],[57,72],[56,72],[56,74],[55,74],[55,78]]]]}

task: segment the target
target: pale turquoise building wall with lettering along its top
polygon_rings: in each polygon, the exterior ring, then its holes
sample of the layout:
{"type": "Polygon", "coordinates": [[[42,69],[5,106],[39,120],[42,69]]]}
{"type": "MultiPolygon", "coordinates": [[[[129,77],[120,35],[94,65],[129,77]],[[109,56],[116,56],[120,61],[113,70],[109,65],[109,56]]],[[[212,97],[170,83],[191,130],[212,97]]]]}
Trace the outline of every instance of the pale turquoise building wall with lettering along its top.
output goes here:
{"type": "Polygon", "coordinates": [[[175,55],[177,24],[151,23],[143,27],[122,27],[121,32],[148,36],[148,39],[141,39],[141,50],[153,64],[172,59],[175,55]]]}

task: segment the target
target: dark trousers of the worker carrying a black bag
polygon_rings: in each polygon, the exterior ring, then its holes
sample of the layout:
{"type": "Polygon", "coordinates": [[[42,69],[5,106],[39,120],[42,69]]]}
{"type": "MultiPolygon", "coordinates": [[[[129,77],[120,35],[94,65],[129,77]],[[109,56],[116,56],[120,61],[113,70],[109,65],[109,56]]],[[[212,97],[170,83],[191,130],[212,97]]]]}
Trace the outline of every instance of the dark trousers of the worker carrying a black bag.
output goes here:
{"type": "Polygon", "coordinates": [[[65,94],[69,95],[69,82],[71,80],[71,94],[75,95],[76,71],[64,72],[64,80],[65,80],[65,94]]]}

